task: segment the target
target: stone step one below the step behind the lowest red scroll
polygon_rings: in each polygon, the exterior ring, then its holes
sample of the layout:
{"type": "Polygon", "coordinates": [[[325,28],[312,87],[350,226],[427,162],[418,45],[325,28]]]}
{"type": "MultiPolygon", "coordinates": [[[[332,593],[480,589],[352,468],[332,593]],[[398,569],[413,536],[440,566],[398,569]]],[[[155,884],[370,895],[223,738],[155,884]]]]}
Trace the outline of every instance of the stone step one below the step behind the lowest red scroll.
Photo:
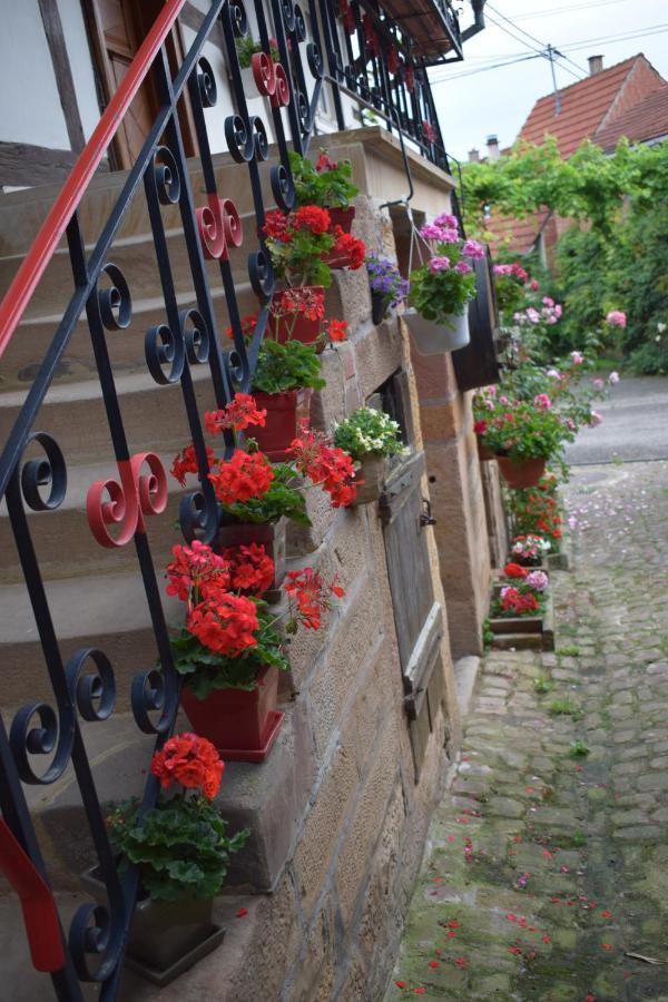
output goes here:
{"type": "MultiPolygon", "coordinates": [[[[102,560],[95,574],[46,581],[45,588],[62,660],[80,648],[102,650],[115,670],[118,706],[128,709],[131,679],[155,666],[157,646],[138,564],[132,573],[110,574],[105,573],[102,560]]],[[[161,577],[158,587],[167,623],[178,625],[183,603],[167,596],[161,577]]],[[[35,699],[50,700],[51,687],[24,583],[2,584],[0,608],[3,713],[35,699]]]]}

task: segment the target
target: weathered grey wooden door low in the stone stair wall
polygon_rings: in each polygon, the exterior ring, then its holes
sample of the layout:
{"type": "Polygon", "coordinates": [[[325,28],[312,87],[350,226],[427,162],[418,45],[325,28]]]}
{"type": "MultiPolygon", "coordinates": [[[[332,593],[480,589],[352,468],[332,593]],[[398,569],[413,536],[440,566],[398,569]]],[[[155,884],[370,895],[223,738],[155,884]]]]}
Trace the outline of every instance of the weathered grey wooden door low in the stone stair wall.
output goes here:
{"type": "Polygon", "coordinates": [[[443,610],[435,600],[426,543],[432,523],[422,498],[424,453],[403,461],[381,498],[387,573],[411,731],[415,777],[420,775],[439,706],[444,701],[441,640],[443,610]]]}

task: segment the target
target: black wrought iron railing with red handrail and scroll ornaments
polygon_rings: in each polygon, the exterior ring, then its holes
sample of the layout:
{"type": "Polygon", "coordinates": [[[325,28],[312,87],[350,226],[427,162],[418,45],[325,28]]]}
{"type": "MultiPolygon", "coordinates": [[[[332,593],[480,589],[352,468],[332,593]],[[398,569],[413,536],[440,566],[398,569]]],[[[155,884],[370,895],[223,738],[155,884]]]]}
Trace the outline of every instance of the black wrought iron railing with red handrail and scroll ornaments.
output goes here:
{"type": "MultiPolygon", "coordinates": [[[[307,150],[324,86],[332,88],[340,128],[350,125],[344,101],[353,99],[358,106],[380,115],[402,143],[413,144],[430,160],[448,167],[426,77],[415,62],[418,53],[412,51],[411,40],[375,2],[353,0],[350,6],[340,2],[336,7],[334,3],[335,0],[307,0],[311,38],[307,38],[304,11],[293,0],[271,0],[271,14],[261,2],[255,3],[259,41],[266,53],[262,60],[261,91],[268,99],[277,147],[277,163],[269,175],[271,190],[275,204],[284,209],[294,202],[288,145],[299,153],[307,150]],[[278,43],[279,65],[274,65],[269,57],[271,37],[278,43]]],[[[249,387],[267,322],[267,304],[274,291],[271,258],[262,236],[265,208],[259,166],[268,157],[267,129],[262,118],[249,114],[235,43],[247,31],[246,13],[240,0],[212,0],[210,10],[181,65],[173,71],[165,40],[183,6],[184,0],[165,3],[0,306],[1,351],[21,321],[65,234],[72,273],[71,293],[0,456],[0,498],[7,502],[52,691],[49,700],[33,701],[16,713],[9,733],[0,719],[0,807],[10,829],[0,844],[0,864],[10,878],[13,874],[17,887],[28,888],[26,894],[35,893],[40,898],[42,911],[28,907],[27,922],[41,915],[42,937],[50,936],[52,941],[55,914],[48,885],[45,885],[48,877],[22,784],[48,786],[71,764],[107,887],[109,907],[81,906],[67,935],[60,927],[62,951],[53,942],[52,950],[38,950],[42,969],[50,971],[57,996],[68,1002],[82,998],[80,983],[85,981],[99,983],[101,1000],[116,998],[138,880],[134,871],[122,878],[117,873],[79,723],[80,719],[104,721],[112,714],[116,700],[114,668],[107,655],[96,648],[82,648],[68,659],[63,657],[31,533],[28,511],[57,511],[67,490],[68,459],[48,428],[40,430],[41,406],[79,317],[85,313],[118,468],[116,480],[91,485],[88,517],[91,531],[104,546],[119,547],[129,542],[135,546],[137,572],[143,581],[161,671],[147,667],[134,678],[131,710],[137,727],[154,735],[156,747],[159,747],[174,728],[179,701],[179,676],[173,667],[158,573],[146,533],[147,519],[165,509],[166,473],[153,452],[131,453],[119,405],[107,340],[110,333],[126,328],[131,321],[132,276],[125,275],[114,264],[115,240],[134,202],[145,199],[164,302],[164,322],[146,335],[146,366],[157,384],[180,386],[200,471],[199,489],[185,497],[179,509],[180,528],[186,539],[213,540],[218,519],[213,488],[206,475],[207,453],[194,372],[199,366],[208,366],[219,407],[235,391],[249,387]],[[219,32],[220,28],[237,109],[225,118],[225,138],[239,169],[247,171],[256,219],[254,233],[243,234],[235,206],[218,190],[206,126],[205,111],[216,106],[218,96],[214,72],[203,49],[214,29],[219,32]],[[149,71],[159,97],[159,111],[98,239],[91,248],[87,247],[78,212],[81,198],[149,71]],[[204,196],[193,190],[184,149],[178,102],[186,94],[195,125],[204,196]],[[178,209],[187,252],[196,301],[196,306],[188,310],[180,308],[175,291],[171,245],[164,220],[169,206],[171,212],[178,209]],[[249,346],[242,335],[240,308],[229,261],[230,249],[239,247],[244,240],[253,244],[248,254],[248,276],[259,302],[257,325],[249,346]],[[233,331],[232,348],[222,346],[205,257],[217,259],[219,266],[233,331]],[[28,458],[36,450],[41,450],[42,458],[28,458]],[[40,760],[46,763],[41,772],[36,766],[40,760]],[[33,874],[33,880],[26,876],[27,872],[33,874]],[[32,892],[31,887],[37,890],[32,892]]],[[[144,808],[155,803],[157,792],[157,780],[149,776],[143,797],[144,808]]],[[[33,937],[35,933],[36,927],[31,926],[30,935],[33,937]]]]}

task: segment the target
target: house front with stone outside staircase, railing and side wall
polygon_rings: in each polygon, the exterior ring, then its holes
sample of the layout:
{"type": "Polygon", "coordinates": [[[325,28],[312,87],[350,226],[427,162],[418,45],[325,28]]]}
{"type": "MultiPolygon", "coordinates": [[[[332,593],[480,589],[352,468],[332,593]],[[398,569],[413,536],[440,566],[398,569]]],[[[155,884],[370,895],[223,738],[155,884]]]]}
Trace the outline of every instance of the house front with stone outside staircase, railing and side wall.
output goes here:
{"type": "Polygon", "coordinates": [[[288,150],[350,160],[353,234],[405,274],[414,227],[456,210],[425,70],[462,58],[483,4],[462,28],[448,0],[0,9],[4,984],[16,1000],[376,1002],[504,551],[469,392],[493,377],[475,342],[493,342],[491,307],[465,355],[425,357],[401,312],[374,322],[365,268],[333,272],[327,316],[350,335],[320,356],[312,428],[367,404],[405,449],[373,504],[304,489],[287,566],[345,595],[289,644],[271,750],[227,762],[217,803],[250,834],[215,901],[225,941],[166,986],[126,963],[138,886],[105,805],[155,803],[151,753],[193,729],[165,568],[184,538],[215,542],[218,512],[208,462],[186,488],[168,470],[189,441],[206,456],[204,414],[252,390],[276,287],[262,224],[293,203],[288,150]],[[264,53],[250,82],[244,39],[264,53]]]}

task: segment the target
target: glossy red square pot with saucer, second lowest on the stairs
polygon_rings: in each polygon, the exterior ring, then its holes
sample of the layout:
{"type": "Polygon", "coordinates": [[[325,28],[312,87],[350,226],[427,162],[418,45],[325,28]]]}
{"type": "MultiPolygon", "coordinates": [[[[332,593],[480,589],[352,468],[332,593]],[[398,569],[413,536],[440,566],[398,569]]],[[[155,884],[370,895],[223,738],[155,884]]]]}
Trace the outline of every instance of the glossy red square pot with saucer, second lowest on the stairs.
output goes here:
{"type": "Polygon", "coordinates": [[[245,689],[215,689],[197,699],[187,686],[181,706],[193,729],[208,738],[222,758],[232,762],[262,762],[278,734],[284,714],[276,709],[278,669],[263,669],[252,692],[245,689]]]}

